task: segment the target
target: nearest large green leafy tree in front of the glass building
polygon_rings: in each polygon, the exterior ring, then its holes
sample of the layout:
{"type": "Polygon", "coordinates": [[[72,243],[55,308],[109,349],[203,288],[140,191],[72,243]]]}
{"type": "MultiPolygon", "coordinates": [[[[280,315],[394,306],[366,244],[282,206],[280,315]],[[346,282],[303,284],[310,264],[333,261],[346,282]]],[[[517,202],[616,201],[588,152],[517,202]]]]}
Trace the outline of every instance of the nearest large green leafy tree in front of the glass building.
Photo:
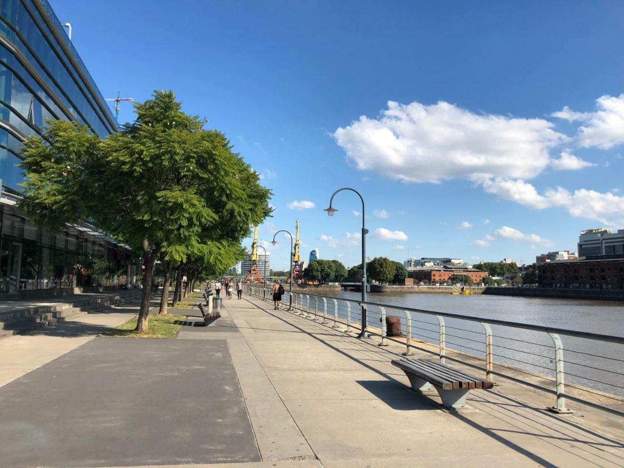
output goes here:
{"type": "Polygon", "coordinates": [[[137,331],[147,330],[154,263],[179,271],[215,241],[240,241],[270,215],[270,191],[217,130],[182,112],[172,91],[135,104],[136,120],[100,139],[87,127],[48,121],[22,163],[20,203],[39,226],[88,220],[142,253],[137,331]]]}

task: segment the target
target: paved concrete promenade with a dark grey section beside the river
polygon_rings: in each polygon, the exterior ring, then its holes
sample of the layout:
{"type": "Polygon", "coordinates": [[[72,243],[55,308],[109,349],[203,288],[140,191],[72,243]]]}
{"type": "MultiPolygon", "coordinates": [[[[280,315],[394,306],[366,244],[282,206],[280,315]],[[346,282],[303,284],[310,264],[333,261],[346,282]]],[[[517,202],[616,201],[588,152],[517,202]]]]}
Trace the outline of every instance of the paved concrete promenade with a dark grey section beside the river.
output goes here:
{"type": "MultiPolygon", "coordinates": [[[[223,303],[208,327],[192,326],[195,311],[175,311],[189,316],[177,339],[78,333],[37,343],[41,330],[0,340],[0,385],[9,382],[0,386],[0,466],[624,465],[617,416],[593,427],[503,385],[472,391],[467,409],[449,412],[390,365],[402,349],[260,301],[223,303]],[[42,365],[51,351],[57,358],[42,365]],[[29,356],[40,364],[7,367],[29,356]]],[[[130,313],[74,329],[101,330],[130,313]]]]}

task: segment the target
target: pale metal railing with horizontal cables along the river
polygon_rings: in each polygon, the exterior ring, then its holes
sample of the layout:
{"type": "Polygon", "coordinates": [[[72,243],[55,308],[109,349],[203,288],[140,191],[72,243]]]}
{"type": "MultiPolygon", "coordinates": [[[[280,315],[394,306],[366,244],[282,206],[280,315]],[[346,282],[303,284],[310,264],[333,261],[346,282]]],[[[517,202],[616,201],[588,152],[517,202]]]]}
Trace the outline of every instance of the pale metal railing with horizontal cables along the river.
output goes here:
{"type": "MultiPolygon", "coordinates": [[[[268,288],[263,290],[261,286],[254,285],[245,285],[245,288],[251,296],[271,301],[272,290],[268,288]]],[[[285,302],[288,294],[288,292],[285,293],[285,302]]],[[[366,307],[369,314],[368,323],[378,328],[377,331],[370,329],[369,332],[381,338],[379,346],[387,346],[388,340],[392,340],[406,346],[403,353],[406,356],[414,354],[414,349],[429,353],[435,352],[441,363],[451,359],[481,369],[487,381],[494,382],[494,376],[500,376],[552,392],[555,394],[556,401],[555,405],[548,409],[554,412],[571,412],[566,407],[566,397],[607,409],[604,404],[595,404],[583,397],[566,394],[566,387],[579,392],[589,392],[602,400],[624,402],[624,348],[621,347],[624,344],[624,337],[621,336],[429,311],[372,301],[363,302],[351,298],[307,292],[293,292],[292,303],[293,313],[314,321],[322,320],[321,323],[324,324],[328,324],[329,306],[331,321],[333,321],[331,326],[333,328],[346,326],[344,329],[346,332],[352,331],[353,326],[359,329],[361,309],[366,307]],[[351,303],[358,306],[352,308],[351,303]],[[388,336],[386,317],[389,315],[399,317],[401,320],[401,329],[405,335],[401,339],[388,336]],[[379,323],[375,324],[373,320],[377,317],[379,323]],[[436,321],[427,321],[427,317],[434,318],[436,321]],[[496,328],[496,334],[492,327],[496,328]],[[514,332],[512,335],[502,333],[510,330],[514,332]],[[576,344],[578,349],[566,349],[566,353],[576,356],[577,360],[568,358],[566,361],[564,359],[562,336],[570,338],[569,342],[576,344]],[[497,344],[494,344],[494,338],[497,344]],[[519,349],[519,346],[524,346],[524,349],[519,349]],[[602,347],[603,351],[613,351],[613,356],[597,354],[598,352],[595,351],[597,346],[602,347]],[[616,346],[617,349],[615,349],[616,346]],[[564,364],[566,368],[572,366],[572,371],[564,370],[564,364]],[[498,370],[494,369],[494,365],[498,370]],[[583,375],[583,370],[585,375],[583,375]],[[545,379],[553,384],[554,389],[545,388],[541,384],[532,384],[529,382],[530,379],[514,378],[511,375],[514,373],[527,374],[540,380],[545,379]],[[573,383],[566,382],[568,377],[573,378],[573,383]]]]}

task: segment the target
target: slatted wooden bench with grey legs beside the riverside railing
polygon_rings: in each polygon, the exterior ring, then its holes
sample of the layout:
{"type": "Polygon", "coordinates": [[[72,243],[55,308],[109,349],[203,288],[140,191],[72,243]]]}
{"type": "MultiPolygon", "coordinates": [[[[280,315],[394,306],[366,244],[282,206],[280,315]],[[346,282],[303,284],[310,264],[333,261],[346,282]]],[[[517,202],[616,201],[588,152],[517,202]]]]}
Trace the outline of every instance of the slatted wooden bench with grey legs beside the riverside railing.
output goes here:
{"type": "Polygon", "coordinates": [[[395,359],[392,366],[404,371],[417,392],[434,386],[442,404],[451,409],[463,408],[470,390],[489,389],[494,385],[432,359],[395,359]]]}

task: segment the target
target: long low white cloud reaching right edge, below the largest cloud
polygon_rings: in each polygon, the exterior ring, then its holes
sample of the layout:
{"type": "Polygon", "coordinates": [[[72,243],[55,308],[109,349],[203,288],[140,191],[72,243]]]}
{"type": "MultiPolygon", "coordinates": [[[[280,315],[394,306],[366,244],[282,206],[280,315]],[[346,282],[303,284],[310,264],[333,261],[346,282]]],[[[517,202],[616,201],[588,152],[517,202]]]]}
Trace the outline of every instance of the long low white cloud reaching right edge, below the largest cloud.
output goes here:
{"type": "Polygon", "coordinates": [[[624,223],[624,197],[615,193],[579,188],[573,193],[565,188],[547,188],[543,195],[524,180],[484,177],[477,181],[485,192],[512,200],[530,208],[563,208],[576,218],[587,218],[607,225],[624,223]]]}

